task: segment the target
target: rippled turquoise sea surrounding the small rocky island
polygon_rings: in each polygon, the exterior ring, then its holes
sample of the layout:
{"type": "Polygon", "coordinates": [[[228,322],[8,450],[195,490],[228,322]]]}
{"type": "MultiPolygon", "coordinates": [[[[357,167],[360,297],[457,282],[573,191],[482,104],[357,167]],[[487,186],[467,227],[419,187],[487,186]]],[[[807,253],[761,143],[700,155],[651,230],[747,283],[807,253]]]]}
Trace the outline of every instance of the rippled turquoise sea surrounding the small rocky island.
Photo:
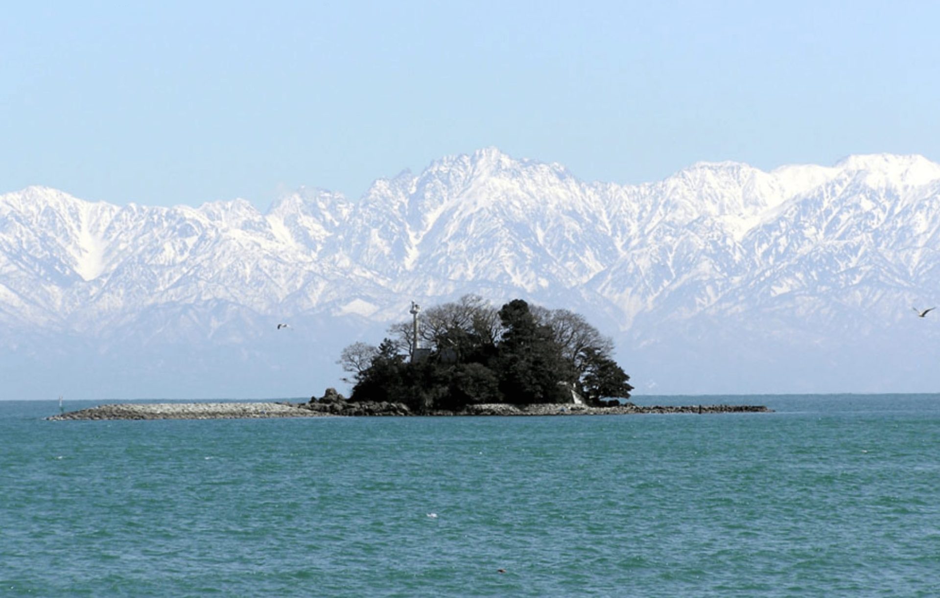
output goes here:
{"type": "Polygon", "coordinates": [[[0,595],[940,595],[940,395],[635,401],[776,413],[51,422],[53,401],[0,402],[0,595]]]}

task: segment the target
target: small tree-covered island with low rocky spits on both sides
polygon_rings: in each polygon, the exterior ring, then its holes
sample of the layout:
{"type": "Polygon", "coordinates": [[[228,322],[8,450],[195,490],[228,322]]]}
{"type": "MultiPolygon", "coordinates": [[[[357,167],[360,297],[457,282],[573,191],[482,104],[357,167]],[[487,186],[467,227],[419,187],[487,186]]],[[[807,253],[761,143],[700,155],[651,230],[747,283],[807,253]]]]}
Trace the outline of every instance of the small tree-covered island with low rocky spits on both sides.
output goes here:
{"type": "Polygon", "coordinates": [[[338,363],[352,396],[281,402],[122,403],[63,419],[217,419],[259,417],[575,416],[761,413],[762,405],[639,406],[630,376],[612,358],[613,341],[580,314],[530,307],[500,309],[476,295],[431,307],[412,304],[412,322],[393,324],[378,346],[354,342],[338,363]],[[419,317],[420,314],[420,317],[419,317]]]}

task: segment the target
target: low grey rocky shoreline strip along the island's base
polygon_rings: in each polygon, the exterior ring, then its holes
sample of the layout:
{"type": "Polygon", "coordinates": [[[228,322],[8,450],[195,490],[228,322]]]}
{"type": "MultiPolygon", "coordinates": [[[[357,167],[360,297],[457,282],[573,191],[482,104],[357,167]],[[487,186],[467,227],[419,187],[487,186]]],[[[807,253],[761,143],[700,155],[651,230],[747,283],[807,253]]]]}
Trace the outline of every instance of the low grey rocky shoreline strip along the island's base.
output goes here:
{"type": "MultiPolygon", "coordinates": [[[[620,416],[641,414],[770,413],[763,405],[652,405],[627,402],[609,407],[577,404],[471,405],[459,412],[432,411],[427,416],[620,416]]],[[[404,417],[415,416],[398,402],[311,401],[291,402],[179,402],[116,403],[72,411],[46,419],[243,419],[274,417],[404,417]]]]}

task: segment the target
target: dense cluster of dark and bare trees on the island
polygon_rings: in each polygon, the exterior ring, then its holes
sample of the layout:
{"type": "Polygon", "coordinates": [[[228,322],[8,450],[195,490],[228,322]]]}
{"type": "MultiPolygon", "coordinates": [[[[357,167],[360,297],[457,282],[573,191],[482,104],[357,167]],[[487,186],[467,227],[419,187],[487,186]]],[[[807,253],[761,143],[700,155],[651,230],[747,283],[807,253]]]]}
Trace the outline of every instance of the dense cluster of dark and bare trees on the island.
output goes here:
{"type": "Polygon", "coordinates": [[[399,402],[426,413],[575,397],[604,406],[633,390],[611,357],[613,341],[567,309],[522,299],[496,309],[465,295],[421,313],[416,335],[413,322],[393,324],[388,333],[378,347],[355,342],[340,355],[352,374],[350,401],[399,402]]]}

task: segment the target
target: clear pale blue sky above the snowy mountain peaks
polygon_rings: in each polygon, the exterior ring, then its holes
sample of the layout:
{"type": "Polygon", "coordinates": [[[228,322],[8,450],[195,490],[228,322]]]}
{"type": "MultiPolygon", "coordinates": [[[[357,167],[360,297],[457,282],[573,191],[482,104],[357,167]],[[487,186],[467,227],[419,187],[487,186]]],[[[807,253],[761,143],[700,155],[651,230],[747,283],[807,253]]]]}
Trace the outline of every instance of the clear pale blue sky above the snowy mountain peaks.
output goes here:
{"type": "Polygon", "coordinates": [[[927,2],[21,2],[0,192],[263,209],[488,146],[631,183],[938,161],[937,23],[927,2]]]}

